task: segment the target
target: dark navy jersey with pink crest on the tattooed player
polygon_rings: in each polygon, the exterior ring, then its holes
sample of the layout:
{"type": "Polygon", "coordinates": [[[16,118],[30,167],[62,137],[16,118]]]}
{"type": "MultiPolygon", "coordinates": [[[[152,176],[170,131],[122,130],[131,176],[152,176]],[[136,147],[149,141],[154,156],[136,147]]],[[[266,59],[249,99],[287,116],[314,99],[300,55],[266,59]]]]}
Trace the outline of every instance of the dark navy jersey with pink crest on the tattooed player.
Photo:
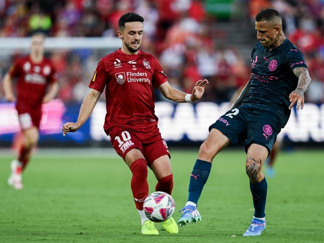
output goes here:
{"type": "Polygon", "coordinates": [[[271,51],[258,43],[251,66],[251,85],[243,106],[275,113],[284,127],[291,113],[289,95],[298,85],[293,70],[307,68],[304,55],[288,39],[271,51]]]}

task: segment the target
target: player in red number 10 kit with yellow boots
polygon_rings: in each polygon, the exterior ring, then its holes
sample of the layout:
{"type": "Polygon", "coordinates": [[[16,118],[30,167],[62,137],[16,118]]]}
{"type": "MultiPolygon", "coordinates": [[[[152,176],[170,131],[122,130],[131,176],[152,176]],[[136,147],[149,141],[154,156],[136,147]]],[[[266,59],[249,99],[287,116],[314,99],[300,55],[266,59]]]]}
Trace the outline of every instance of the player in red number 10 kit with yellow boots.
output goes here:
{"type": "MultiPolygon", "coordinates": [[[[99,61],[89,84],[91,90],[83,100],[77,121],[65,123],[62,130],[64,135],[77,131],[90,116],[106,87],[104,130],[132,172],[131,190],[141,218],[141,233],[158,235],[154,223],[146,218],[143,211],[143,202],[148,196],[147,166],[158,180],[156,191],[171,194],[173,176],[168,147],[161,138],[158,118],[154,114],[154,88],[170,100],[191,102],[201,98],[208,81],[199,80],[192,94],[172,88],[156,58],[139,50],[143,21],[142,16],[133,12],[119,18],[117,34],[122,48],[99,61]]],[[[173,218],[163,222],[163,226],[169,233],[178,233],[173,218]]]]}

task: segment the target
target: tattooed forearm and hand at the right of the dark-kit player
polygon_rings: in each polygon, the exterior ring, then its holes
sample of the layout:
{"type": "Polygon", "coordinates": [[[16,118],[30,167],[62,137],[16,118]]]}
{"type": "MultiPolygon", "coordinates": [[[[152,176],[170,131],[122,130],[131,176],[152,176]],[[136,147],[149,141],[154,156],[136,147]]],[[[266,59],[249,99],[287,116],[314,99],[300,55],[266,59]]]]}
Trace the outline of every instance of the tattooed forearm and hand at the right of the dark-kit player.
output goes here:
{"type": "Polygon", "coordinates": [[[298,77],[298,85],[297,88],[289,95],[289,101],[291,102],[289,109],[292,109],[296,102],[296,108],[299,109],[299,107],[302,105],[301,108],[303,109],[304,92],[308,89],[312,79],[306,67],[296,67],[293,72],[296,77],[298,77]]]}

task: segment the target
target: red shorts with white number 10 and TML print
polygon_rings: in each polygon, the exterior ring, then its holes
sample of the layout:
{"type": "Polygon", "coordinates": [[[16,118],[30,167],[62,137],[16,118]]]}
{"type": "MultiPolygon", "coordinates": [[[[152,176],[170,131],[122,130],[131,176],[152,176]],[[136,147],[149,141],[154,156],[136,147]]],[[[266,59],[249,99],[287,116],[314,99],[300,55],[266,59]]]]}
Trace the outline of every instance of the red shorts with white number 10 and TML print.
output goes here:
{"type": "Polygon", "coordinates": [[[142,134],[138,134],[136,131],[127,128],[114,128],[109,133],[112,146],[123,160],[125,160],[127,152],[134,148],[142,152],[148,166],[163,155],[168,155],[170,158],[168,145],[161,138],[160,133],[149,139],[143,138],[142,134]]]}

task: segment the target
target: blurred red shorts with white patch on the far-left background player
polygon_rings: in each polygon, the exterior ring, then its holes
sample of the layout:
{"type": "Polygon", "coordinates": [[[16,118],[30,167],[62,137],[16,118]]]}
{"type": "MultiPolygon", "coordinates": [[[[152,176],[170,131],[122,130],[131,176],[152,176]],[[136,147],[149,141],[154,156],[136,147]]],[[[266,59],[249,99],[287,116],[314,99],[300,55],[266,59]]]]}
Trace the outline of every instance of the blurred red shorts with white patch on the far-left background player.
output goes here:
{"type": "Polygon", "coordinates": [[[39,129],[41,110],[37,109],[34,111],[26,111],[17,109],[17,112],[21,130],[27,130],[31,127],[36,127],[39,129]]]}

